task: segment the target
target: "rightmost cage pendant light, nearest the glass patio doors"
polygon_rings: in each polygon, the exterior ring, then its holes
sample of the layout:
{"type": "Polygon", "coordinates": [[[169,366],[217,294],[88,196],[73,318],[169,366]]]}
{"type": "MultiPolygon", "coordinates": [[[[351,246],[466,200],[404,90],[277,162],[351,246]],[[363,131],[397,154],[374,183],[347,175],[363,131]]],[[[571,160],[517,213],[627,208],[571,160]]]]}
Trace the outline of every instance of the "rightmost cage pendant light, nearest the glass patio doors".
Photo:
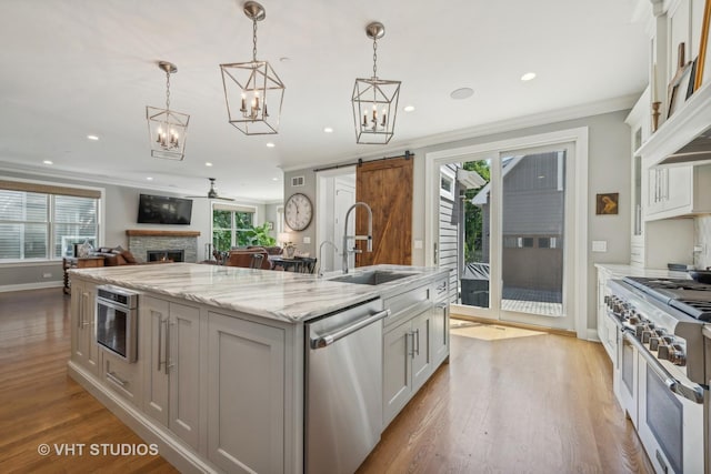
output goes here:
{"type": "Polygon", "coordinates": [[[373,75],[356,79],[353,87],[356,142],[385,144],[394,133],[401,82],[378,78],[378,40],[385,34],[385,27],[372,22],[365,27],[365,34],[373,40],[373,75]]]}

